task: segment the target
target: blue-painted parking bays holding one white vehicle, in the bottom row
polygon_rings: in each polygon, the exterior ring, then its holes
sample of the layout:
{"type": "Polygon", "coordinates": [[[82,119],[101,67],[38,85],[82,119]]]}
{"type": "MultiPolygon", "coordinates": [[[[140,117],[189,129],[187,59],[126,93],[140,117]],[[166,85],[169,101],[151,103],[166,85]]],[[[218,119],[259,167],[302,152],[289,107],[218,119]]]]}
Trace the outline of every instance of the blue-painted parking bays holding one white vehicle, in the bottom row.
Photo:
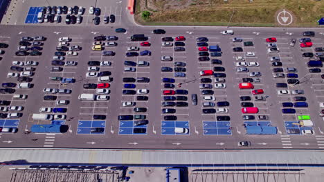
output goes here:
{"type": "MultiPolygon", "coordinates": [[[[161,134],[181,134],[181,135],[184,134],[184,133],[176,133],[174,131],[174,128],[189,129],[189,121],[162,121],[161,122],[161,134]]],[[[190,134],[190,130],[186,134],[190,134]]]]}

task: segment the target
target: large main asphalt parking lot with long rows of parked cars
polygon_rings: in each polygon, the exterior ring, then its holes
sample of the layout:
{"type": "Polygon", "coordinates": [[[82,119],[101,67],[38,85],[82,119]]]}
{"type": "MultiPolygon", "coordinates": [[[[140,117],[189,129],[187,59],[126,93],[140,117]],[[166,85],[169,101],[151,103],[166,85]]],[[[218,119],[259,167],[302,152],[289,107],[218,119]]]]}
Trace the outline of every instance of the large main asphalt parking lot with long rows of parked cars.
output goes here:
{"type": "MultiPolygon", "coordinates": [[[[8,106],[24,107],[24,110],[19,111],[23,114],[22,117],[0,121],[0,125],[4,128],[18,128],[17,133],[2,133],[1,139],[3,141],[14,140],[19,136],[24,136],[26,142],[23,142],[24,139],[15,140],[10,145],[24,146],[27,144],[42,147],[71,145],[72,147],[114,148],[114,146],[119,146],[129,148],[136,145],[138,148],[174,148],[175,146],[237,148],[238,141],[251,141],[251,148],[309,148],[309,146],[322,148],[324,138],[321,122],[323,119],[319,114],[321,112],[319,104],[324,101],[322,73],[310,73],[309,69],[312,68],[307,66],[310,59],[302,57],[303,52],[315,54],[314,48],[324,47],[322,34],[316,32],[316,37],[310,37],[312,47],[300,48],[302,31],[289,36],[277,33],[256,35],[239,30],[235,30],[234,35],[222,35],[219,32],[210,34],[208,31],[206,34],[203,31],[197,34],[188,34],[186,31],[173,34],[169,30],[166,30],[165,34],[153,34],[152,30],[127,30],[125,33],[116,33],[114,30],[102,29],[93,33],[93,30],[89,29],[78,33],[66,29],[62,30],[64,33],[55,34],[53,33],[55,29],[44,28],[42,32],[33,32],[33,28],[27,28],[24,33],[19,34],[21,31],[17,29],[3,34],[0,41],[8,43],[9,47],[3,48],[6,52],[1,60],[1,69],[3,69],[0,75],[1,83],[19,84],[16,81],[17,78],[7,77],[8,72],[20,74],[19,71],[10,70],[12,61],[25,61],[24,63],[37,61],[39,64],[33,66],[35,70],[33,76],[30,76],[33,78],[30,82],[33,87],[15,88],[16,91],[13,93],[27,94],[27,99],[13,99],[13,94],[10,93],[0,95],[0,100],[10,101],[8,106]],[[134,32],[145,34],[146,41],[150,45],[141,45],[145,41],[131,41],[134,32]],[[100,43],[95,43],[94,37],[101,34],[105,37],[116,36],[118,39],[105,39],[100,43]],[[11,38],[15,36],[16,38],[11,38]],[[46,37],[40,50],[42,55],[16,56],[15,52],[21,37],[35,36],[46,37]],[[175,41],[179,36],[185,39],[175,41]],[[51,61],[57,54],[55,52],[60,52],[56,50],[62,42],[59,41],[60,37],[69,37],[69,45],[66,46],[71,48],[73,45],[78,45],[80,50],[73,51],[77,52],[74,56],[64,56],[62,60],[64,65],[53,65],[51,61]],[[162,45],[163,37],[172,37],[174,39],[170,41],[172,45],[162,45]],[[210,45],[219,45],[222,54],[217,57],[209,56],[209,61],[199,61],[201,57],[199,52],[204,52],[198,50],[201,47],[197,46],[199,37],[208,39],[206,41],[208,48],[210,45]],[[240,37],[242,41],[233,42],[234,37],[240,37]],[[269,37],[276,37],[276,42],[272,43],[277,44],[279,52],[268,52],[268,44],[271,42],[267,42],[266,39],[269,37]],[[291,39],[296,39],[294,46],[289,45],[291,39]],[[253,45],[244,44],[249,41],[253,45]],[[116,42],[116,45],[109,46],[109,42],[116,42]],[[176,42],[183,42],[183,44],[175,46],[176,42]],[[93,50],[94,44],[100,44],[100,50],[93,50]],[[174,50],[175,47],[183,49],[177,51],[174,50]],[[242,48],[242,51],[236,52],[233,48],[242,48]],[[142,54],[145,50],[151,54],[142,54]],[[115,54],[105,56],[106,51],[113,51],[115,54]],[[138,53],[138,56],[128,57],[129,52],[134,52],[134,55],[138,53]],[[253,56],[246,52],[253,53],[253,56]],[[172,61],[161,61],[161,57],[172,57],[172,61]],[[280,61],[278,59],[271,61],[272,57],[278,57],[280,61]],[[213,61],[215,59],[222,63],[213,61]],[[89,61],[98,61],[99,64],[91,65],[90,63],[89,65],[89,61]],[[69,63],[66,64],[67,62],[69,63]],[[60,69],[52,67],[60,67],[60,69]],[[243,67],[248,71],[237,70],[243,67]],[[168,71],[162,71],[162,68],[168,71]],[[273,72],[275,68],[282,68],[282,70],[278,69],[273,72]],[[293,73],[287,68],[296,69],[294,74],[298,74],[296,79],[299,79],[299,84],[289,83],[290,76],[289,78],[273,77],[278,73],[285,75],[293,73]],[[213,70],[213,73],[217,75],[226,74],[226,77],[201,76],[200,72],[206,70],[213,70]],[[257,75],[251,74],[252,72],[257,75]],[[256,72],[260,72],[260,75],[256,72]],[[98,74],[107,75],[109,80],[101,81],[98,74]],[[53,77],[74,79],[74,83],[62,83],[62,81],[53,80],[53,77]],[[127,78],[135,80],[127,81],[127,78]],[[147,78],[147,81],[139,81],[141,78],[147,78]],[[204,79],[204,83],[201,79],[204,79]],[[248,81],[253,84],[253,88],[239,88],[240,83],[248,81]],[[84,84],[89,83],[95,84],[96,88],[85,88],[84,84]],[[102,83],[109,85],[100,85],[102,83]],[[287,83],[288,86],[278,88],[276,83],[287,83]],[[44,92],[44,88],[71,90],[71,93],[67,91],[44,92]],[[253,90],[260,89],[264,93],[253,92],[253,90]],[[210,91],[203,92],[203,90],[210,91]],[[294,90],[303,90],[303,93],[293,94],[294,90]],[[96,101],[79,100],[80,94],[93,94],[97,99],[96,101]],[[197,94],[197,105],[192,104],[192,94],[197,94]],[[99,98],[98,95],[100,95],[99,98]],[[55,96],[55,99],[44,100],[46,96],[55,96]],[[283,107],[283,103],[289,105],[301,102],[296,97],[305,97],[308,107],[283,107]],[[62,101],[62,103],[57,101],[62,101]],[[246,106],[241,105],[258,108],[258,112],[244,114],[241,110],[246,106]],[[33,114],[41,113],[41,108],[50,108],[51,111],[48,113],[57,116],[52,121],[33,119],[33,114]],[[66,109],[66,112],[54,112],[55,108],[66,109]],[[282,109],[287,108],[294,109],[296,112],[283,113],[282,109]],[[96,118],[94,117],[96,115],[102,115],[105,118],[96,118]],[[298,119],[298,117],[302,115],[309,116],[314,125],[301,125],[300,121],[305,119],[298,119]],[[118,116],[130,117],[118,119],[118,116]],[[148,123],[138,124],[138,121],[146,120],[148,123]],[[65,124],[69,125],[69,131],[63,134],[24,134],[33,124],[65,124]],[[278,128],[278,133],[273,135],[246,134],[246,127],[250,126],[274,126],[278,128]],[[93,128],[102,129],[92,131],[93,128]],[[307,134],[303,130],[311,130],[314,133],[307,134]],[[37,138],[37,141],[31,141],[34,138],[37,138]],[[119,143],[118,139],[120,139],[119,143]],[[210,144],[205,145],[206,143],[201,141],[208,141],[210,144]],[[69,144],[71,142],[73,144],[69,144]],[[96,144],[91,144],[92,142],[96,144]]],[[[211,54],[213,51],[207,52],[211,54]]],[[[21,65],[23,69],[26,67],[28,66],[21,65]]],[[[13,111],[3,113],[11,112],[13,111]]],[[[8,144],[3,143],[3,145],[8,144]]]]}

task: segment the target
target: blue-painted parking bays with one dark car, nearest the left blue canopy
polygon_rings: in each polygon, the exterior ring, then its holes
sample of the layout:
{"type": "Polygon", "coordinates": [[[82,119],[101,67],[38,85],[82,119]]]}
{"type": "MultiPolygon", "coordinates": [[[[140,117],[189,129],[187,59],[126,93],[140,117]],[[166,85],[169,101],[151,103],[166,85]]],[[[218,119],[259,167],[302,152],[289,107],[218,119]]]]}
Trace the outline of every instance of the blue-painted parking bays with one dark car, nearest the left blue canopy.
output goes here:
{"type": "MultiPolygon", "coordinates": [[[[56,121],[56,123],[58,122],[56,121]]],[[[77,134],[105,134],[105,131],[91,132],[91,128],[105,128],[105,127],[106,127],[106,121],[79,120],[77,134]]]]}

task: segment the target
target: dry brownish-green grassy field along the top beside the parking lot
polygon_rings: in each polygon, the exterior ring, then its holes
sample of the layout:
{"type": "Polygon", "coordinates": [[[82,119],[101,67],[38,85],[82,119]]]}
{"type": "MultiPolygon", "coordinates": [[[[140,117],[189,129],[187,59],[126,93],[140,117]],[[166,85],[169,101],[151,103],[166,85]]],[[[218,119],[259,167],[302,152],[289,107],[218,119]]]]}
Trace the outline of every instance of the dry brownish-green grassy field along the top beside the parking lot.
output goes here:
{"type": "Polygon", "coordinates": [[[324,0],[138,0],[136,20],[143,25],[227,26],[234,12],[231,26],[279,26],[276,14],[282,9],[293,13],[290,26],[316,27],[324,17],[324,0]],[[150,20],[141,19],[143,10],[151,12],[150,20]]]}

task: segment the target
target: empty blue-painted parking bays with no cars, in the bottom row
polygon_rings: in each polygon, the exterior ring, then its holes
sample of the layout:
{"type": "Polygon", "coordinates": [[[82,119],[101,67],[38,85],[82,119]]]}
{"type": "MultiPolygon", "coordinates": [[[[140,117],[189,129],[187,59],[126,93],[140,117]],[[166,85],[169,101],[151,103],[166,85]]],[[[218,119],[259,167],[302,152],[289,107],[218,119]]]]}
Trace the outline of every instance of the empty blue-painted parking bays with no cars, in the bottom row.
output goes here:
{"type": "Polygon", "coordinates": [[[229,121],[203,121],[204,134],[227,135],[232,134],[229,121]]]}

